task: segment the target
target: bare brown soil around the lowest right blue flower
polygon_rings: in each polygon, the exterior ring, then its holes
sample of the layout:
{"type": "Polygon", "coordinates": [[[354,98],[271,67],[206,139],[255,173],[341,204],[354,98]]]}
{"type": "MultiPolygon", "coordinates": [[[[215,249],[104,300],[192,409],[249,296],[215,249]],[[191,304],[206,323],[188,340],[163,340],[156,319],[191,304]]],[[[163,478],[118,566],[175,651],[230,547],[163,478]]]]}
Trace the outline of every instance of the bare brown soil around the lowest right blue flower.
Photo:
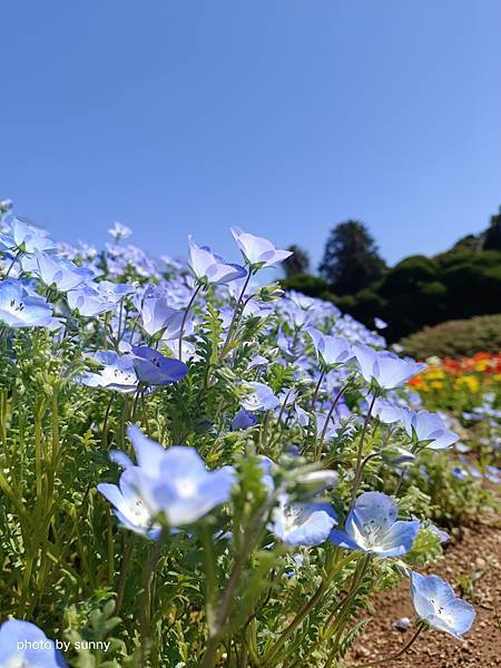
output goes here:
{"type": "MultiPolygon", "coordinates": [[[[445,558],[420,572],[436,573],[454,591],[475,607],[472,629],[460,642],[439,631],[426,631],[399,660],[383,661],[382,668],[497,668],[501,667],[501,525],[499,519],[484,520],[475,528],[463,529],[452,539],[445,558]]],[[[399,651],[412,637],[392,623],[409,617],[413,622],[409,580],[374,599],[374,615],[358,638],[346,662],[350,668],[384,659],[399,651]]]]}

